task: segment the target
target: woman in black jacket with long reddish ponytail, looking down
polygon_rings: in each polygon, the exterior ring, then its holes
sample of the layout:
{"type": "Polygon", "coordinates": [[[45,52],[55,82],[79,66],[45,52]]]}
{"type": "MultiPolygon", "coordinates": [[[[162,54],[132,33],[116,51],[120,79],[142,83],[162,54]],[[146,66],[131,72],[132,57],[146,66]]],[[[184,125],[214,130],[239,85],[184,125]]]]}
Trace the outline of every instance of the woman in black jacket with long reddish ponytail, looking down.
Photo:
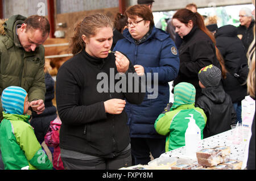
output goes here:
{"type": "Polygon", "coordinates": [[[220,68],[214,46],[215,40],[198,12],[178,10],[172,17],[172,24],[183,39],[179,47],[180,69],[174,80],[174,86],[180,82],[191,83],[196,88],[197,99],[201,95],[197,77],[199,70],[210,64],[220,68]]]}

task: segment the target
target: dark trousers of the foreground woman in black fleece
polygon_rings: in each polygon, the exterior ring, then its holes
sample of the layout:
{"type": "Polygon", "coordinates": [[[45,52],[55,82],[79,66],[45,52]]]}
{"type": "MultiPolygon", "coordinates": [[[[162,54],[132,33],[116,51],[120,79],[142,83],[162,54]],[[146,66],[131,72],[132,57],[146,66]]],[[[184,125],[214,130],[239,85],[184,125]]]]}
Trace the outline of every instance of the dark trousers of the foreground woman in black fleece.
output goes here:
{"type": "Polygon", "coordinates": [[[131,150],[123,151],[115,158],[72,159],[62,158],[65,170],[117,170],[131,166],[131,150]]]}

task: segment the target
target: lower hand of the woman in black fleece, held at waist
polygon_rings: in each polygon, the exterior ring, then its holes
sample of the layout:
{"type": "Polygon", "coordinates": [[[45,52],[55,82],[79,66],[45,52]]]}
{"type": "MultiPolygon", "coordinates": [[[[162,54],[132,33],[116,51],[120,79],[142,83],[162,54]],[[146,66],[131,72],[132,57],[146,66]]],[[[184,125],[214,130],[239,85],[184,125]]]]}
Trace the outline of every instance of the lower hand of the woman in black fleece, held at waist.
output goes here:
{"type": "Polygon", "coordinates": [[[109,99],[104,102],[105,112],[112,114],[119,114],[125,108],[125,100],[123,99],[109,99]]]}

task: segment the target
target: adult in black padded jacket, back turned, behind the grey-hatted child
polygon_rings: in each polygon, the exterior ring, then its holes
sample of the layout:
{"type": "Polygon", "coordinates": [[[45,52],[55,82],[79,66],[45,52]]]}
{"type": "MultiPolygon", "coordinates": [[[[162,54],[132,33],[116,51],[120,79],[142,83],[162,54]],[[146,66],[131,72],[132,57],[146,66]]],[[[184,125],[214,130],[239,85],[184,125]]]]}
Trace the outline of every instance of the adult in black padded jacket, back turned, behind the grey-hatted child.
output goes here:
{"type": "MultiPolygon", "coordinates": [[[[232,98],[234,109],[237,113],[237,121],[241,119],[241,100],[247,95],[247,86],[245,80],[241,80],[241,70],[245,70],[245,79],[247,77],[247,58],[242,41],[237,37],[237,28],[233,25],[226,25],[218,28],[214,34],[216,46],[224,58],[225,68],[228,70],[226,79],[222,79],[223,88],[232,98]]],[[[242,75],[241,75],[242,77],[242,75]]]]}

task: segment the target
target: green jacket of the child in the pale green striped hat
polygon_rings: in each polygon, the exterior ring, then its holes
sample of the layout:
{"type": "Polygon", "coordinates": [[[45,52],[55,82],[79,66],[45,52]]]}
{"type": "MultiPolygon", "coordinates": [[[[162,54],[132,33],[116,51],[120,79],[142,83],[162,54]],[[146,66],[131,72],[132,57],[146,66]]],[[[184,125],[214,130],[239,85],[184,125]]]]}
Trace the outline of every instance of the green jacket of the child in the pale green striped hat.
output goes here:
{"type": "Polygon", "coordinates": [[[173,111],[160,114],[156,119],[156,132],[166,135],[166,152],[185,146],[185,132],[189,122],[185,117],[190,117],[191,113],[201,130],[201,139],[203,139],[207,116],[201,108],[195,107],[194,104],[181,105],[173,111]]]}

